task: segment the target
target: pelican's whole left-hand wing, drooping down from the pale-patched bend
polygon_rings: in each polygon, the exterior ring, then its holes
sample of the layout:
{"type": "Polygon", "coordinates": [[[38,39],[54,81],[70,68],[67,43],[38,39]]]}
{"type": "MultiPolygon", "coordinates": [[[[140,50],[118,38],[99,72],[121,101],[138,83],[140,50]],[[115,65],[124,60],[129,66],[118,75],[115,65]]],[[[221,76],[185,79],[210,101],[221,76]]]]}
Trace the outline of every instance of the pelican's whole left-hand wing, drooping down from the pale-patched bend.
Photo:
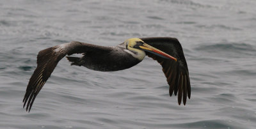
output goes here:
{"type": "Polygon", "coordinates": [[[44,86],[47,79],[51,76],[58,62],[66,55],[81,54],[85,52],[108,52],[109,47],[102,47],[81,42],[70,42],[61,45],[56,45],[48,49],[41,50],[37,55],[37,66],[35,72],[31,76],[24,96],[23,108],[30,111],[33,102],[39,91],[44,86]]]}

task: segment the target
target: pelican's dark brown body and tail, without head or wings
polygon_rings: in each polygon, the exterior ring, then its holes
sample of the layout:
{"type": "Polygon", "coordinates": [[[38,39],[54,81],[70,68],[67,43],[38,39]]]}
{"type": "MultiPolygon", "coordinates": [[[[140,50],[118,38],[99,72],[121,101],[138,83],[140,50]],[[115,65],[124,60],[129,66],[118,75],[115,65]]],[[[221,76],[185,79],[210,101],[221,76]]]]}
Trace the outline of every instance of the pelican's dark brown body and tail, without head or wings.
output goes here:
{"type": "Polygon", "coordinates": [[[142,61],[125,52],[124,43],[108,49],[106,52],[86,52],[83,57],[67,56],[67,59],[72,62],[71,65],[85,66],[90,70],[101,72],[125,70],[142,61]]]}

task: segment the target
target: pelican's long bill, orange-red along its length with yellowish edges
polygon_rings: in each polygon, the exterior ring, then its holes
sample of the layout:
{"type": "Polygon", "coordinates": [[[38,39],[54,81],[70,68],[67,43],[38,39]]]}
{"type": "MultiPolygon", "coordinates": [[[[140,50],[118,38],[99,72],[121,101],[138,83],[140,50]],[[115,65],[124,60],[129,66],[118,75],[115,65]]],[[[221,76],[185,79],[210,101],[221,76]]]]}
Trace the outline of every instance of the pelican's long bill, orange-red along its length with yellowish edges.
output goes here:
{"type": "Polygon", "coordinates": [[[173,59],[173,60],[177,61],[177,59],[175,57],[172,57],[169,54],[166,54],[165,52],[148,45],[147,43],[143,43],[143,45],[141,45],[139,47],[140,47],[140,49],[143,49],[143,50],[146,50],[146,51],[151,52],[153,54],[156,54],[157,56],[161,56],[161,57],[164,57],[166,59],[173,59]]]}

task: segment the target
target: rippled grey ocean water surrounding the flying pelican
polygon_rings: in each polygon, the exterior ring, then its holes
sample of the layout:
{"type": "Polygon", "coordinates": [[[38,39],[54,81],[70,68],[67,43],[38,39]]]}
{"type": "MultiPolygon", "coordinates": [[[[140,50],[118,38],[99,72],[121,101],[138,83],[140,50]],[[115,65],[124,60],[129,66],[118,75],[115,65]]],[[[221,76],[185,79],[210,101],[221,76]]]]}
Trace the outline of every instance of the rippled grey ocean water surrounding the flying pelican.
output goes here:
{"type": "Polygon", "coordinates": [[[2,0],[0,128],[256,128],[256,1],[2,0]],[[149,57],[130,69],[95,72],[60,61],[22,108],[42,49],[73,40],[118,45],[127,38],[178,38],[191,99],[168,95],[149,57]]]}

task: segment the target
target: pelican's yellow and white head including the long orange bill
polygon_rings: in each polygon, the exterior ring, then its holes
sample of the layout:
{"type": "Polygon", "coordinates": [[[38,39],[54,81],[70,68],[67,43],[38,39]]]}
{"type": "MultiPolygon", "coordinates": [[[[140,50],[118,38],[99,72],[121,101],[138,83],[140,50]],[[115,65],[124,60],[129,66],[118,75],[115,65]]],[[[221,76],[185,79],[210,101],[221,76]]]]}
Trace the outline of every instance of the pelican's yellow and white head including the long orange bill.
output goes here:
{"type": "Polygon", "coordinates": [[[177,61],[175,57],[172,57],[169,54],[166,54],[165,52],[148,45],[140,38],[129,38],[128,40],[125,40],[125,46],[127,49],[125,51],[131,54],[133,57],[139,59],[140,61],[142,61],[146,56],[145,51],[163,57],[165,59],[173,59],[177,61]]]}

